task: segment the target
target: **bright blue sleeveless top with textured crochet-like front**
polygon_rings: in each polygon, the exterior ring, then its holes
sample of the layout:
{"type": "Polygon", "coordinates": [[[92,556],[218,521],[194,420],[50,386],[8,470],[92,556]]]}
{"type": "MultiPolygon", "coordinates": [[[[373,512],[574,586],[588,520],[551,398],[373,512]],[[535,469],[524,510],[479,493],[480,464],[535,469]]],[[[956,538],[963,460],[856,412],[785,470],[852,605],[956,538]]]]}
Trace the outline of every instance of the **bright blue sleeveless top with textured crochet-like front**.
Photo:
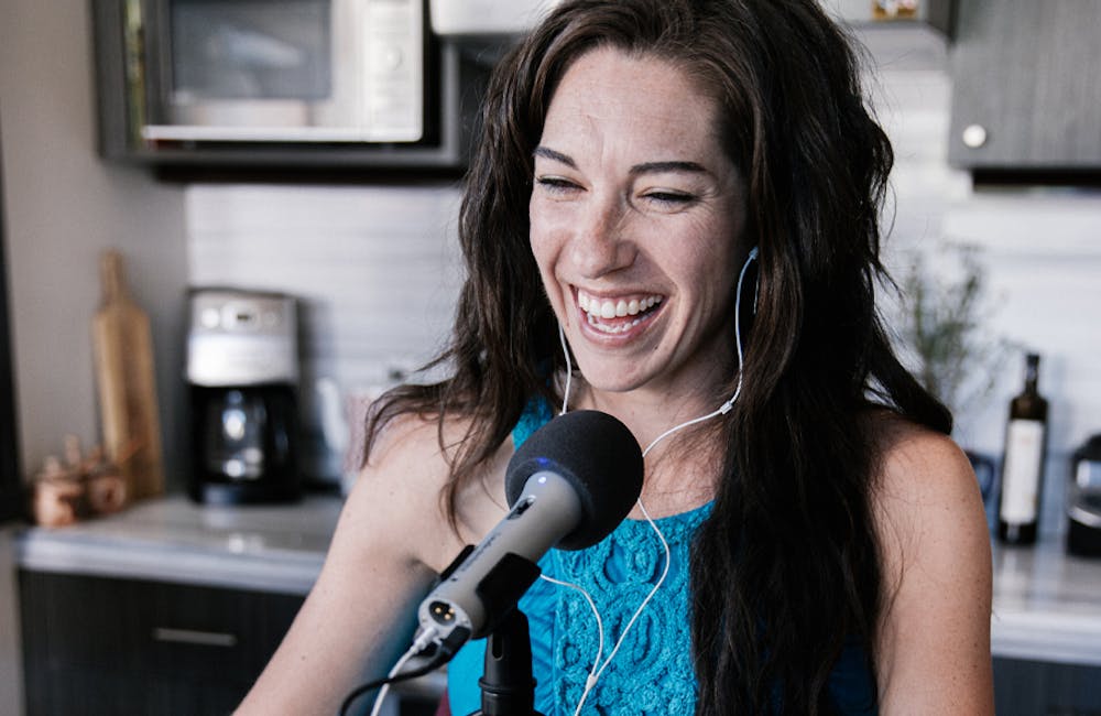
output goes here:
{"type": "MultiPolygon", "coordinates": [[[[549,406],[533,401],[513,430],[516,447],[550,416],[549,406]]],[[[586,697],[584,714],[684,716],[695,710],[688,561],[696,529],[710,512],[708,503],[655,520],[669,545],[669,573],[586,697]]],[[[592,597],[603,622],[601,665],[661,578],[664,556],[648,522],[624,520],[591,547],[552,550],[539,561],[544,575],[578,585],[592,597]]],[[[597,659],[600,639],[596,616],[580,592],[542,578],[520,600],[520,609],[527,617],[532,637],[535,708],[545,716],[571,716],[597,659]]],[[[484,654],[486,640],[472,641],[448,665],[453,716],[481,708],[478,680],[484,654]]],[[[871,674],[858,643],[846,648],[838,660],[830,691],[839,714],[877,713],[871,674]]]]}

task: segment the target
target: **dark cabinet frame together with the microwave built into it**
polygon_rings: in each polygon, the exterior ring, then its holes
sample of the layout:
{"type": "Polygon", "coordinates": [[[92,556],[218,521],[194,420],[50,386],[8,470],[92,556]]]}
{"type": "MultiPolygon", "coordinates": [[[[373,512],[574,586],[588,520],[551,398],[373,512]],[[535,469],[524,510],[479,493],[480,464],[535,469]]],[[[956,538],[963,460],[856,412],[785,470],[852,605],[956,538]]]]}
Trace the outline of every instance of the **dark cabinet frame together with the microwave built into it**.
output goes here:
{"type": "Polygon", "coordinates": [[[92,0],[101,153],[460,164],[461,102],[480,95],[460,89],[464,51],[432,33],[426,6],[92,0]]]}

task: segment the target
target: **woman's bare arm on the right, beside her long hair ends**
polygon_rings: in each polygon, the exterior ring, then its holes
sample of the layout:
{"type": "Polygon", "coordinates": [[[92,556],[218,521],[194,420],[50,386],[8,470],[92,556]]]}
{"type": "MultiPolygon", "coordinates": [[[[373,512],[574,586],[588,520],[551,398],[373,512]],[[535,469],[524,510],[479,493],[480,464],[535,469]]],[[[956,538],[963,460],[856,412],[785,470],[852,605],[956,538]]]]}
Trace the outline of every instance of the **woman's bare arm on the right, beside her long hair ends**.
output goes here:
{"type": "Polygon", "coordinates": [[[876,505],[880,713],[992,715],[990,533],[974,473],[949,438],[894,432],[876,505]]]}

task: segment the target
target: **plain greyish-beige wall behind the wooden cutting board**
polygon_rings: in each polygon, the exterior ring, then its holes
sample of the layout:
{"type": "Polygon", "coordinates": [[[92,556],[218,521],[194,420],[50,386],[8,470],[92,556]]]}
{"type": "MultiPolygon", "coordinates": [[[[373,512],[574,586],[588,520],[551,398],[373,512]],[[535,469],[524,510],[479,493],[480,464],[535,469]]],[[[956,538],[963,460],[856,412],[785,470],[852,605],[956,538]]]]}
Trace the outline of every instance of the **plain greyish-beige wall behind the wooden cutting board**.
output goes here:
{"type": "MultiPolygon", "coordinates": [[[[21,458],[28,470],[64,434],[99,440],[90,318],[99,252],[118,247],[153,323],[168,465],[181,421],[178,336],[186,283],[184,199],[95,151],[88,2],[0,3],[0,140],[9,310],[21,458]]],[[[7,536],[0,550],[10,552],[7,536]]],[[[10,562],[0,560],[0,713],[20,712],[10,562]],[[12,668],[9,668],[11,665],[12,668]]]]}

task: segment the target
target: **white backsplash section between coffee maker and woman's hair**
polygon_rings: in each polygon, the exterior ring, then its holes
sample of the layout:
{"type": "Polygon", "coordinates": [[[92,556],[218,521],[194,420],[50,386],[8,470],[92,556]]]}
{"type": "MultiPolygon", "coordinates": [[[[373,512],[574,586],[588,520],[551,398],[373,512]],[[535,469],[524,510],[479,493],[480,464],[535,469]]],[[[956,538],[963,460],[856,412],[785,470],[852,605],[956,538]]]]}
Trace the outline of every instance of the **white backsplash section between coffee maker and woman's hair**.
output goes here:
{"type": "Polygon", "coordinates": [[[193,285],[302,301],[303,359],[341,386],[427,359],[450,325],[460,270],[453,186],[188,188],[193,285]]]}

